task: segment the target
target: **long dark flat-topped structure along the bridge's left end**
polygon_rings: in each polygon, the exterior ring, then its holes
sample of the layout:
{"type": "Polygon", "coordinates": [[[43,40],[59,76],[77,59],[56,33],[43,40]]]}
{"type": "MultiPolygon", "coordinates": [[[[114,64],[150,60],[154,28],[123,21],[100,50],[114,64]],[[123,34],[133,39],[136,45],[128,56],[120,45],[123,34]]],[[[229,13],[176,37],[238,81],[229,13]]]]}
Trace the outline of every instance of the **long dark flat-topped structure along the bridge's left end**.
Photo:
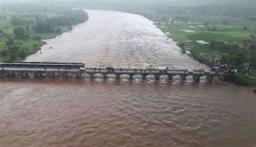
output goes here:
{"type": "Polygon", "coordinates": [[[41,69],[80,69],[84,63],[55,63],[55,62],[2,62],[0,68],[41,68],[41,69]]]}

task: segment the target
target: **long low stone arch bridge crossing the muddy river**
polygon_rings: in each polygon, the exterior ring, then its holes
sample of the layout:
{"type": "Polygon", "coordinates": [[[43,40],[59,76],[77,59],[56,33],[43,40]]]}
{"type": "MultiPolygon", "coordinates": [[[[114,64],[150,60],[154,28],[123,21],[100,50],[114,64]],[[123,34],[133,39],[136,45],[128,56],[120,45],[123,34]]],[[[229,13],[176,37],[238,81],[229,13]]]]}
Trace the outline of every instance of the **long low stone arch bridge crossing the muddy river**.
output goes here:
{"type": "MultiPolygon", "coordinates": [[[[90,77],[94,79],[97,75],[107,79],[110,75],[115,76],[116,79],[120,79],[126,75],[129,79],[133,79],[139,76],[143,80],[146,80],[150,75],[154,77],[155,80],[159,80],[161,77],[165,76],[169,80],[172,80],[174,76],[179,76],[181,80],[186,80],[186,77],[192,76],[194,81],[198,82],[201,77],[205,76],[206,79],[212,82],[214,77],[220,80],[229,80],[235,75],[235,73],[216,73],[214,71],[205,72],[205,70],[184,70],[184,69],[124,69],[124,68],[112,68],[111,70],[107,68],[74,68],[73,65],[65,65],[52,67],[42,67],[35,65],[34,67],[29,67],[27,65],[17,66],[17,65],[5,65],[1,67],[0,63],[0,77],[19,77],[19,78],[86,78],[90,77]]],[[[80,66],[80,65],[79,65],[80,66]]]]}

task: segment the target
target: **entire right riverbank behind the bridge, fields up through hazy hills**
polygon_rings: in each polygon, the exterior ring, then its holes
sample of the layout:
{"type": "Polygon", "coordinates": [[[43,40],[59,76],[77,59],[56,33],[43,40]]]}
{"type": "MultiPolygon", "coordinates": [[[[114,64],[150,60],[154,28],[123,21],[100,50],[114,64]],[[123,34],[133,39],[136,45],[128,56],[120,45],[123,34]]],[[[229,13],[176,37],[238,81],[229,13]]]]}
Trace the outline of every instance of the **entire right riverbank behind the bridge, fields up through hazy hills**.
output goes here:
{"type": "Polygon", "coordinates": [[[134,13],[154,22],[180,48],[209,66],[227,64],[251,77],[256,75],[254,2],[85,2],[91,9],[134,13]],[[189,5],[187,5],[189,4],[189,5]],[[249,70],[250,69],[250,70],[249,70]],[[252,70],[251,70],[252,69],[252,70]]]}

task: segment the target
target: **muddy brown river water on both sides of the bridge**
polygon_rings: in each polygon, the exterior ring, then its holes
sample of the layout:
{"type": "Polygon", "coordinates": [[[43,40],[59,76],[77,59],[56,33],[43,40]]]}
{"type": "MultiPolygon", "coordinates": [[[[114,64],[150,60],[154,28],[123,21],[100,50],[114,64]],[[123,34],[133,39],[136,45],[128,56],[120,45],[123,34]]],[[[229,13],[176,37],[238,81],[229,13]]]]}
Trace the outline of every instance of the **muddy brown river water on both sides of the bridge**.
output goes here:
{"type": "MultiPolygon", "coordinates": [[[[86,11],[26,61],[207,68],[142,16],[86,11]]],[[[217,79],[0,79],[0,146],[255,146],[255,114],[255,94],[217,79]]]]}

